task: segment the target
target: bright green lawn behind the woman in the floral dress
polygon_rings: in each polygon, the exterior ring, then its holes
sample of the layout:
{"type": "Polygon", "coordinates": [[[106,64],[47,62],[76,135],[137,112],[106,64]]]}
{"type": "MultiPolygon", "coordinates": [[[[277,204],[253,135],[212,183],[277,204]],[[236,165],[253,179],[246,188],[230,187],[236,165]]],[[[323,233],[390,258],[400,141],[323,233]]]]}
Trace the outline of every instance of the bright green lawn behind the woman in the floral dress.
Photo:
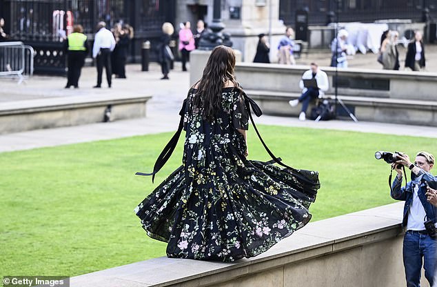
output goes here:
{"type": "MultiPolygon", "coordinates": [[[[389,165],[376,150],[437,154],[435,139],[260,126],[276,156],[318,170],[314,220],[390,204],[389,165]]],[[[181,163],[182,139],[152,184],[171,133],[0,153],[0,275],[80,275],[165,255],[145,235],[136,204],[181,163]]],[[[250,158],[268,160],[253,129],[250,158]]]]}

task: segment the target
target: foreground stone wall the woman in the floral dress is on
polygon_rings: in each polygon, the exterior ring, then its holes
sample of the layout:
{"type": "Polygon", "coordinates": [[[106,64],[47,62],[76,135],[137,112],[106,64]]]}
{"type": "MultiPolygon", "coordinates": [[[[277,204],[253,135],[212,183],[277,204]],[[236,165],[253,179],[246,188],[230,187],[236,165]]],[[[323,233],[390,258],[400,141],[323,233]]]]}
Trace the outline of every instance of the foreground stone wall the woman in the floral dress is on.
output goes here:
{"type": "MultiPolygon", "coordinates": [[[[388,196],[388,195],[387,195],[388,196]]],[[[405,286],[403,203],[307,224],[234,263],[159,257],[70,279],[72,287],[405,286]]],[[[423,279],[423,286],[426,279],[423,279]]]]}

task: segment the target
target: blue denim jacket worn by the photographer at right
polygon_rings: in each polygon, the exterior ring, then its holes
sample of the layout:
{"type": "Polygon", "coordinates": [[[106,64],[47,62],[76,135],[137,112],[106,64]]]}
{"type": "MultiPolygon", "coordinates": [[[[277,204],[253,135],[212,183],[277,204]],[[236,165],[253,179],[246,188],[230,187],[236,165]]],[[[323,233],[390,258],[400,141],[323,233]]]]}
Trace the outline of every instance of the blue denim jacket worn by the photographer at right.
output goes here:
{"type": "Polygon", "coordinates": [[[402,186],[402,179],[398,179],[398,177],[394,178],[392,184],[392,192],[390,192],[392,198],[396,200],[405,201],[404,215],[402,221],[403,228],[407,226],[409,206],[411,206],[411,204],[413,203],[414,185],[419,186],[418,197],[423,205],[423,208],[425,208],[427,220],[431,219],[434,222],[434,224],[436,224],[437,222],[437,208],[427,201],[427,197],[425,195],[425,192],[427,192],[427,186],[425,184],[425,181],[427,181],[428,183],[432,182],[435,184],[437,179],[429,172],[425,172],[424,170],[420,170],[420,171],[421,172],[419,175],[411,176],[411,181],[407,183],[407,186],[402,186]]]}

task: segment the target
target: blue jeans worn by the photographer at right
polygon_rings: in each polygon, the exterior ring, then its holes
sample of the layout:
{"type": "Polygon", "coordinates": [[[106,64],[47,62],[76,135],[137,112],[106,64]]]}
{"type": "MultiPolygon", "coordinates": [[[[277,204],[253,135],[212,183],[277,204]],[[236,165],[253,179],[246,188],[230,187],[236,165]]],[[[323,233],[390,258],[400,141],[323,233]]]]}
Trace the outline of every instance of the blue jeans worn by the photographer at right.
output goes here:
{"type": "Polygon", "coordinates": [[[436,247],[437,240],[432,239],[429,235],[405,233],[403,258],[407,287],[420,286],[422,258],[424,259],[423,268],[425,269],[425,277],[429,281],[429,286],[434,286],[434,273],[436,272],[437,261],[436,247]]]}

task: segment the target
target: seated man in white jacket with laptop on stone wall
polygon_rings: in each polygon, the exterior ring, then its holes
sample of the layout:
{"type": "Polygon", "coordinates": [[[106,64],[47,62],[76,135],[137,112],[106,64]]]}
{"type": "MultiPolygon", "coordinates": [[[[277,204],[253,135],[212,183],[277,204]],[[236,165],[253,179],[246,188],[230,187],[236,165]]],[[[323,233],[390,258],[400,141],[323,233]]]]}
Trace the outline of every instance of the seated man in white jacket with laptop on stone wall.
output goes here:
{"type": "Polygon", "coordinates": [[[299,102],[302,102],[301,114],[299,115],[300,121],[305,121],[305,113],[307,112],[309,101],[316,99],[317,97],[322,97],[325,95],[325,91],[329,88],[329,82],[327,75],[323,70],[319,69],[316,63],[311,63],[310,69],[305,71],[302,75],[302,79],[299,82],[299,87],[301,87],[302,95],[298,99],[289,101],[290,106],[295,107],[299,102]],[[316,87],[305,87],[304,79],[316,79],[316,87]]]}

